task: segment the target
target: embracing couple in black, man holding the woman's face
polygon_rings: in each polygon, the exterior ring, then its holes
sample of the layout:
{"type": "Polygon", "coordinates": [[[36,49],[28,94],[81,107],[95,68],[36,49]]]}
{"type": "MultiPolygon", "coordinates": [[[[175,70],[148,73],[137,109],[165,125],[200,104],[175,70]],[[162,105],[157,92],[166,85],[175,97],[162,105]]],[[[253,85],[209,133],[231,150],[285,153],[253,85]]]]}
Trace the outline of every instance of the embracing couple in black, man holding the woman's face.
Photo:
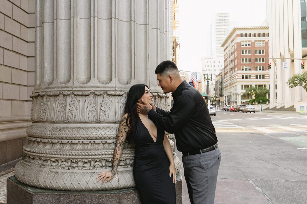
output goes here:
{"type": "Polygon", "coordinates": [[[181,79],[174,62],[161,62],[155,73],[162,90],[172,92],[172,109],[154,106],[145,84],[132,86],[119,124],[112,170],[101,172],[98,181],[103,184],[115,176],[127,141],[135,147],[133,173],[141,202],[176,203],[176,171],[166,131],[175,134],[182,152],[190,202],[214,203],[221,153],[206,102],[181,79]]]}

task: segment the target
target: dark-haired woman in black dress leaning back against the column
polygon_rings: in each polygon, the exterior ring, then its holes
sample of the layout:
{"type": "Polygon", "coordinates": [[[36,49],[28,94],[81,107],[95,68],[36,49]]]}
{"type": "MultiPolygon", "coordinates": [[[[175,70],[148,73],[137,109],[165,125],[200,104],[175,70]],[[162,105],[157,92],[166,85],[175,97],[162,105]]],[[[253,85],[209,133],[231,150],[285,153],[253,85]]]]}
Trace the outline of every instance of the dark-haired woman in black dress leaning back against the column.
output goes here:
{"type": "Polygon", "coordinates": [[[136,110],[137,102],[153,106],[152,96],[145,84],[130,88],[117,133],[112,170],[99,173],[97,178],[103,184],[115,176],[127,140],[135,147],[133,174],[142,203],[175,203],[176,171],[169,140],[147,115],[136,110]]]}

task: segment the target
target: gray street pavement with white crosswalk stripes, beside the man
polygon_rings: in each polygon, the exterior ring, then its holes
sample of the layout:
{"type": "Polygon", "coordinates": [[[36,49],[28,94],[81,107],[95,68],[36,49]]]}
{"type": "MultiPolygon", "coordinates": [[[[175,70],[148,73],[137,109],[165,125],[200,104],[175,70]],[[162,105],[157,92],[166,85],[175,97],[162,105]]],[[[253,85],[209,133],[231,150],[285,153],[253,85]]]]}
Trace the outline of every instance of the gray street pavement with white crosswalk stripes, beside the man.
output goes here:
{"type": "Polygon", "coordinates": [[[307,203],[307,115],[216,111],[211,119],[222,154],[215,203],[307,203]]]}

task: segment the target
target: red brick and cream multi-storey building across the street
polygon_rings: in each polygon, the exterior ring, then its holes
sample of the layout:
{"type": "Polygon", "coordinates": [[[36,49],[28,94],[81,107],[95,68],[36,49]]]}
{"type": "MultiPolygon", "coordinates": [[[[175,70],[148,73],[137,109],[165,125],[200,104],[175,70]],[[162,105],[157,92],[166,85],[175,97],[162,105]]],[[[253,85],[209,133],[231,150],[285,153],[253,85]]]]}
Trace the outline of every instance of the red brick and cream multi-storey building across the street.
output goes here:
{"type": "Polygon", "coordinates": [[[224,104],[236,105],[252,99],[250,86],[269,88],[269,28],[235,27],[222,43],[224,50],[224,104]]]}

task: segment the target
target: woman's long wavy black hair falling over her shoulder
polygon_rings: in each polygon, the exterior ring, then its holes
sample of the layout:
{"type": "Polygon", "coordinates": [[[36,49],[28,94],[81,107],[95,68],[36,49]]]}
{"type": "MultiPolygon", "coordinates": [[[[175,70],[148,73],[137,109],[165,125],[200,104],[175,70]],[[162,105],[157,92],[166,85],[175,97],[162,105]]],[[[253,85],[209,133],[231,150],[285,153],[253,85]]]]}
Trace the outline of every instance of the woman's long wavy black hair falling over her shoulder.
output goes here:
{"type": "Polygon", "coordinates": [[[136,103],[144,95],[145,86],[149,89],[149,87],[145,84],[135,84],[132,87],[130,87],[125,106],[125,114],[128,113],[126,124],[129,127],[126,140],[128,141],[128,143],[131,143],[134,147],[135,147],[134,133],[136,131],[138,124],[138,113],[136,111],[137,107],[136,103]]]}

